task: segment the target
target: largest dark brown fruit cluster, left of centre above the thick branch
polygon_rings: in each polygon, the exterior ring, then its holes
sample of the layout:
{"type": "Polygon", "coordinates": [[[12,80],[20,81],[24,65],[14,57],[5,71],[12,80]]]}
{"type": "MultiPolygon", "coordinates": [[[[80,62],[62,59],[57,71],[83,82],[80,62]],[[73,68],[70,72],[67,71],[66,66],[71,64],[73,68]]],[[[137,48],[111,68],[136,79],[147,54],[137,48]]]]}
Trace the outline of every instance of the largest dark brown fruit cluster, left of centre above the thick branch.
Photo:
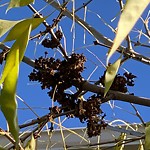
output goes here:
{"type": "Polygon", "coordinates": [[[35,60],[35,69],[30,73],[29,79],[40,82],[42,89],[50,89],[48,95],[54,101],[69,105],[72,103],[72,97],[64,91],[74,85],[75,82],[82,81],[81,72],[84,70],[85,61],[86,58],[82,54],[72,54],[63,61],[55,60],[52,57],[40,57],[35,60]]]}

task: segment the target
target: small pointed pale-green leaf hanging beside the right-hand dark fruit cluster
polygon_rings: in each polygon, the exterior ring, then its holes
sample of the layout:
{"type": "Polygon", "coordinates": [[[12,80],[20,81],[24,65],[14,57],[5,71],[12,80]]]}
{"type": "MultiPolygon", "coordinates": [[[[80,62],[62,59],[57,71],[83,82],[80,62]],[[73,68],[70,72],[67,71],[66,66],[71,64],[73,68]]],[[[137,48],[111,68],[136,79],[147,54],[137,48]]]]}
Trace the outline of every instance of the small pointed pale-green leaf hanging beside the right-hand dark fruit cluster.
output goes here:
{"type": "Polygon", "coordinates": [[[105,92],[104,92],[104,96],[106,96],[107,92],[109,91],[114,78],[118,72],[119,66],[120,66],[120,62],[121,62],[121,57],[114,62],[113,64],[111,64],[110,66],[108,66],[106,73],[105,73],[105,92]]]}

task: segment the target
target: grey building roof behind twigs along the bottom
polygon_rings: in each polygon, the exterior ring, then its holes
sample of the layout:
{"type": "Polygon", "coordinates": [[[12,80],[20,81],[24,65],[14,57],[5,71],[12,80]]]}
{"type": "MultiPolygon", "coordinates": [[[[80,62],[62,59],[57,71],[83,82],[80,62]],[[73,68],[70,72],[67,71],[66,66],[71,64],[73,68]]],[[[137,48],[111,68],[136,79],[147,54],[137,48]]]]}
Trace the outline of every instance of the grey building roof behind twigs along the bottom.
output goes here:
{"type": "MultiPolygon", "coordinates": [[[[114,149],[115,140],[120,136],[121,132],[127,134],[127,138],[137,138],[144,135],[144,127],[141,125],[131,125],[130,127],[121,125],[108,126],[102,129],[101,136],[88,138],[86,128],[72,128],[61,130],[42,131],[37,140],[37,150],[64,150],[64,145],[68,150],[93,150],[99,147],[114,149]],[[137,131],[136,128],[138,129],[137,131]],[[63,132],[63,135],[62,135],[63,132]],[[62,138],[63,137],[63,138],[62,138]]],[[[27,133],[26,133],[27,134],[27,133]]],[[[4,136],[0,136],[0,145],[5,146],[8,140],[4,136]]],[[[125,150],[137,150],[139,147],[139,140],[125,145],[125,150]]]]}

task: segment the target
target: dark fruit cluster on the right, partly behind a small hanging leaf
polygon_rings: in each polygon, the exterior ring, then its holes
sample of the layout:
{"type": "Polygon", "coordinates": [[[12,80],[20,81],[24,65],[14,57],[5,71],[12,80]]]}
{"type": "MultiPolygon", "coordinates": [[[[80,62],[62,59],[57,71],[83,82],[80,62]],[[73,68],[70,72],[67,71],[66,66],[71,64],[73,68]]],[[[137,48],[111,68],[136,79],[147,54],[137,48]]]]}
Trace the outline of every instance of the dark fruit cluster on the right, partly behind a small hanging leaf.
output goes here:
{"type": "MultiPolygon", "coordinates": [[[[116,75],[110,89],[114,91],[120,91],[120,92],[126,93],[128,91],[127,86],[134,86],[134,78],[136,78],[136,76],[133,75],[132,73],[125,72],[123,76],[118,74],[116,75]]],[[[99,82],[103,86],[105,86],[104,81],[105,81],[105,72],[103,76],[101,76],[99,82]]]]}

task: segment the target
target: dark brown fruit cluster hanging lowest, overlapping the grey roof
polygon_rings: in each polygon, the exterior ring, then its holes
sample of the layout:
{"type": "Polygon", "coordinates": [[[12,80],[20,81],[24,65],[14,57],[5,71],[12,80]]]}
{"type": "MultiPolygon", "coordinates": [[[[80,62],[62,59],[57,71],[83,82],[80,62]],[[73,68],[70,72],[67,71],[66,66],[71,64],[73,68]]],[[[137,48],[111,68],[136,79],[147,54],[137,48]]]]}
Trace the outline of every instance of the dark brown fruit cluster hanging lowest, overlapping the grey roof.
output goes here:
{"type": "Polygon", "coordinates": [[[105,115],[100,108],[101,96],[93,95],[87,101],[79,101],[79,114],[77,117],[81,122],[87,122],[87,134],[89,137],[100,135],[101,128],[105,128],[107,124],[103,120],[105,115]]]}

